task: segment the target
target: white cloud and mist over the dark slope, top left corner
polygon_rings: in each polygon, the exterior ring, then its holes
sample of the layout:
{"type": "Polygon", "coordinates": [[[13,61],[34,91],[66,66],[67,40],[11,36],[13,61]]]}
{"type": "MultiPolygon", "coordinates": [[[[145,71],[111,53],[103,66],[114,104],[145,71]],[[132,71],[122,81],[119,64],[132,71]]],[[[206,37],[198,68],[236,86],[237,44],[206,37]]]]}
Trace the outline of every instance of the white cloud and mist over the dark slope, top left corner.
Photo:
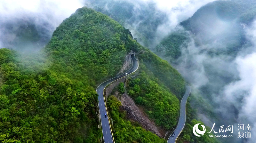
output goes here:
{"type": "Polygon", "coordinates": [[[81,0],[0,1],[1,48],[41,49],[55,28],[83,5],[81,0]]]}

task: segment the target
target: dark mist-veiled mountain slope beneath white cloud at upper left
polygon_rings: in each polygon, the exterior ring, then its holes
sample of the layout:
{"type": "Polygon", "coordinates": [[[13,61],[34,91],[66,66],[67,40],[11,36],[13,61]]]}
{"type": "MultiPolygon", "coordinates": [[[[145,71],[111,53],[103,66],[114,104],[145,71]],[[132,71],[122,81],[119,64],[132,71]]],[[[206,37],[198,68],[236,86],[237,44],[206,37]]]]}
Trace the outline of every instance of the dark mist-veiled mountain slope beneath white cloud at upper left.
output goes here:
{"type": "Polygon", "coordinates": [[[33,18],[19,19],[1,23],[2,46],[19,47],[22,51],[38,51],[50,40],[50,29],[47,23],[38,26],[33,18]],[[15,21],[15,22],[14,22],[15,21]]]}

